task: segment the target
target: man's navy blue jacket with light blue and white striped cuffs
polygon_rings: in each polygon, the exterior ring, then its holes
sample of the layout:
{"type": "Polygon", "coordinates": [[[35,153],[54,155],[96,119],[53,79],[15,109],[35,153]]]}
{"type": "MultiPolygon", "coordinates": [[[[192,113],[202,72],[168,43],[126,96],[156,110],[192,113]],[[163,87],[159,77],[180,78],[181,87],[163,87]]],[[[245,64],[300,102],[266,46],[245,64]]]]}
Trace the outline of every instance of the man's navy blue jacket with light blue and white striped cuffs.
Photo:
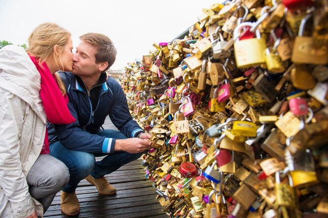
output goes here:
{"type": "Polygon", "coordinates": [[[61,77],[66,86],[68,109],[76,119],[67,125],[47,125],[50,143],[60,140],[67,149],[89,153],[113,153],[115,138],[98,136],[95,133],[109,115],[113,124],[127,137],[135,137],[143,132],[132,119],[126,96],[120,84],[113,78],[101,75],[98,105],[96,109],[88,93],[81,88],[74,74],[62,72],[61,77]]]}

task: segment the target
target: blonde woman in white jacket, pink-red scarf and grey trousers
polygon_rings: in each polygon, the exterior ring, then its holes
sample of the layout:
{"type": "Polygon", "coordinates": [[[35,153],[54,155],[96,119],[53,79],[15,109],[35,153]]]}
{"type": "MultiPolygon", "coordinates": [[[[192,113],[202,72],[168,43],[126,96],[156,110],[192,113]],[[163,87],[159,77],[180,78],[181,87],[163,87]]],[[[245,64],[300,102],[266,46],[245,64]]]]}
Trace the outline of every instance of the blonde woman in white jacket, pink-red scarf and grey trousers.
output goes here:
{"type": "Polygon", "coordinates": [[[44,23],[31,33],[28,52],[13,45],[0,50],[1,218],[42,217],[68,183],[66,165],[49,155],[46,123],[75,121],[56,76],[72,70],[70,36],[44,23]]]}

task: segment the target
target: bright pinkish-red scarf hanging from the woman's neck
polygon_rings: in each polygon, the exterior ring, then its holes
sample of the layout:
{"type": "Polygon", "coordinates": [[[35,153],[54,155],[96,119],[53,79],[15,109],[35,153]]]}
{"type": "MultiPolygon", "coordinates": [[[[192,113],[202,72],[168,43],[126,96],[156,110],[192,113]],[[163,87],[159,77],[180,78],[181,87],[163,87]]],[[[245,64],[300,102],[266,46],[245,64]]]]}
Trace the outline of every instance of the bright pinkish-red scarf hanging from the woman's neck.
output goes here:
{"type": "MultiPolygon", "coordinates": [[[[40,96],[48,121],[52,124],[69,124],[75,122],[75,118],[67,108],[68,97],[67,95],[62,95],[55,74],[51,75],[45,62],[40,66],[35,56],[31,54],[29,56],[41,76],[40,96]]],[[[41,154],[49,153],[48,130],[46,130],[41,154]]]]}

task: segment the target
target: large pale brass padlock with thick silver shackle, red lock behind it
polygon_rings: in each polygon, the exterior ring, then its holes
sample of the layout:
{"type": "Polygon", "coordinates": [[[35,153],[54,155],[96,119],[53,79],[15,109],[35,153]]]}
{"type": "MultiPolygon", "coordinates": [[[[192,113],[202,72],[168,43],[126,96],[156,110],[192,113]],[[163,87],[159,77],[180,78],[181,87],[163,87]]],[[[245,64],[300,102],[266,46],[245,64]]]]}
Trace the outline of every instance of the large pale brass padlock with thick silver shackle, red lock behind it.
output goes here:
{"type": "Polygon", "coordinates": [[[233,31],[234,56],[238,68],[259,66],[265,62],[265,40],[261,38],[258,29],[256,30],[257,38],[238,40],[239,29],[247,26],[253,27],[253,24],[250,22],[241,23],[233,31]]]}

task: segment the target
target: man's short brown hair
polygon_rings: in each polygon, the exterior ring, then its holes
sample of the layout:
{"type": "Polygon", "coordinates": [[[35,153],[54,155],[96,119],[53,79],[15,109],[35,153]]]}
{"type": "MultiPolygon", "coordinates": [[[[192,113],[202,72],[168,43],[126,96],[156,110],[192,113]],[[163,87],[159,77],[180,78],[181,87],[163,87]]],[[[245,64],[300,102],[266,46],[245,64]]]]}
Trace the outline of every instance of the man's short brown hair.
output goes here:
{"type": "Polygon", "coordinates": [[[108,63],[108,67],[103,72],[108,70],[109,67],[113,65],[117,51],[114,47],[112,40],[110,40],[107,36],[100,33],[89,32],[84,35],[81,35],[80,40],[88,42],[97,48],[98,53],[95,55],[96,63],[108,63]]]}

